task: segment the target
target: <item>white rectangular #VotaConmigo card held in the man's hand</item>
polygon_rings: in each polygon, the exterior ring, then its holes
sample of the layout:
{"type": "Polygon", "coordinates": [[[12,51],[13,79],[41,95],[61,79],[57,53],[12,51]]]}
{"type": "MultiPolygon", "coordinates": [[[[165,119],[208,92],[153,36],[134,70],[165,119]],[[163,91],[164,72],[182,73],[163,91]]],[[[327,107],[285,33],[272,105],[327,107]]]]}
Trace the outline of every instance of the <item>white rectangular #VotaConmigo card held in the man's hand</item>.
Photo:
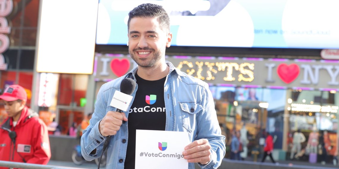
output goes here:
{"type": "Polygon", "coordinates": [[[187,132],[136,130],[135,169],[187,169],[182,152],[190,143],[187,132]]]}

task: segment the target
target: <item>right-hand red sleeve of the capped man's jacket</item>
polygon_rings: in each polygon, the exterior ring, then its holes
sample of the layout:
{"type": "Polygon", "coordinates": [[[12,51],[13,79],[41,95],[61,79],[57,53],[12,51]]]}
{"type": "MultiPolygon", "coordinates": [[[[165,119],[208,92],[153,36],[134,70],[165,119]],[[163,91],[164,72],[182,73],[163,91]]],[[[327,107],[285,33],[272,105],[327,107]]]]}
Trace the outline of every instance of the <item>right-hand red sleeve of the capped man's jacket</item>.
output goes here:
{"type": "MultiPolygon", "coordinates": [[[[34,119],[35,120],[35,119],[34,119]]],[[[48,130],[46,124],[37,118],[32,132],[35,134],[32,140],[32,148],[34,150],[34,157],[26,159],[27,163],[32,164],[47,164],[51,159],[51,147],[49,145],[48,130]]]]}

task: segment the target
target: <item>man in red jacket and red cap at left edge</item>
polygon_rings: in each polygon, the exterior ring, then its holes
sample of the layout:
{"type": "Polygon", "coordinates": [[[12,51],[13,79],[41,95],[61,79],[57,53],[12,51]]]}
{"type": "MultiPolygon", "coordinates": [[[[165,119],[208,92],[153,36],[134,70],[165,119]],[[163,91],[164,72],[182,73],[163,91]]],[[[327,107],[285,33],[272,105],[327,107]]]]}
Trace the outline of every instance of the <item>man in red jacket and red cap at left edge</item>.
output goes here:
{"type": "Polygon", "coordinates": [[[24,88],[11,85],[0,99],[8,114],[0,129],[0,160],[47,164],[51,158],[47,126],[26,106],[24,88]]]}

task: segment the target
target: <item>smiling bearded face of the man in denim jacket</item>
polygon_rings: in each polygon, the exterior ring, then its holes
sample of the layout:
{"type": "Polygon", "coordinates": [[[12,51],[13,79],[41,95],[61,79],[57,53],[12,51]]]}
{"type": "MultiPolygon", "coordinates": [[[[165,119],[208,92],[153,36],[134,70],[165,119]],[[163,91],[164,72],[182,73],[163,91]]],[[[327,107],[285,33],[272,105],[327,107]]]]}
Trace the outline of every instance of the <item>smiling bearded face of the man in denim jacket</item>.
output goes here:
{"type": "Polygon", "coordinates": [[[141,67],[159,65],[171,46],[172,33],[162,30],[157,18],[132,18],[127,35],[128,52],[141,67]]]}

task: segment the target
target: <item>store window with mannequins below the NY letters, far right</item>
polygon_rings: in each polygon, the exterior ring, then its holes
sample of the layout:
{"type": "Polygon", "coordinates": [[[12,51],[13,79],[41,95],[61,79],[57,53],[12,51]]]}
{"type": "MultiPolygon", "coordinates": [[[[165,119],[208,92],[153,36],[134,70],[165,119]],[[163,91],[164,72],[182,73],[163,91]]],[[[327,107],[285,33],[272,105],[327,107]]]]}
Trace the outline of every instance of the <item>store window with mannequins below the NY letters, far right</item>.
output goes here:
{"type": "Polygon", "coordinates": [[[288,157],[303,160],[312,154],[323,154],[319,155],[319,161],[324,164],[337,154],[339,95],[336,91],[293,90],[291,93],[292,97],[287,99],[290,112],[288,157]],[[304,135],[305,140],[295,143],[293,140],[298,133],[304,135]],[[297,144],[301,145],[300,149],[296,148],[297,144]]]}

